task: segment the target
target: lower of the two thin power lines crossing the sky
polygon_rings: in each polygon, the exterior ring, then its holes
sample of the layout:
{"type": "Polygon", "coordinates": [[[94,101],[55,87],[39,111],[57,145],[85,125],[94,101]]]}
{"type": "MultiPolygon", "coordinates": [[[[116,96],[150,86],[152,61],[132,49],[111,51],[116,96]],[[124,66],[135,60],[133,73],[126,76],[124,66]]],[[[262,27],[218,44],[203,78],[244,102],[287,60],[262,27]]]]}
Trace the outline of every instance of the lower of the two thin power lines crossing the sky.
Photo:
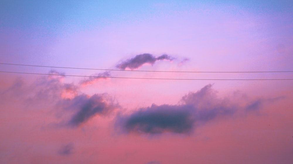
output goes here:
{"type": "Polygon", "coordinates": [[[293,80],[293,79],[169,79],[169,78],[143,78],[143,77],[103,77],[103,76],[82,76],[82,75],[59,75],[59,74],[28,73],[28,72],[8,72],[8,71],[0,71],[0,72],[20,73],[20,74],[33,74],[33,75],[55,75],[55,76],[117,78],[117,79],[152,79],[152,80],[293,80]]]}

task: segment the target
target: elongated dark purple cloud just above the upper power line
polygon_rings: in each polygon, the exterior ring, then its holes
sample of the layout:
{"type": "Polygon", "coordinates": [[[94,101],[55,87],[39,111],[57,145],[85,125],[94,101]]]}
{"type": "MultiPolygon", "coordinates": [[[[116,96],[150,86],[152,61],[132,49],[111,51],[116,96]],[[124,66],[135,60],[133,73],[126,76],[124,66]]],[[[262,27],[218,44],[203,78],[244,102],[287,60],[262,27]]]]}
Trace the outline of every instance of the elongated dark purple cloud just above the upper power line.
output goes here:
{"type": "Polygon", "coordinates": [[[134,58],[128,59],[128,60],[116,65],[116,67],[121,70],[125,70],[126,68],[129,68],[130,70],[134,70],[134,69],[141,67],[145,63],[149,63],[149,64],[153,65],[157,60],[170,60],[170,61],[172,61],[173,58],[171,56],[166,55],[166,54],[161,55],[159,57],[154,57],[151,54],[144,53],[144,54],[136,55],[134,58]]]}

